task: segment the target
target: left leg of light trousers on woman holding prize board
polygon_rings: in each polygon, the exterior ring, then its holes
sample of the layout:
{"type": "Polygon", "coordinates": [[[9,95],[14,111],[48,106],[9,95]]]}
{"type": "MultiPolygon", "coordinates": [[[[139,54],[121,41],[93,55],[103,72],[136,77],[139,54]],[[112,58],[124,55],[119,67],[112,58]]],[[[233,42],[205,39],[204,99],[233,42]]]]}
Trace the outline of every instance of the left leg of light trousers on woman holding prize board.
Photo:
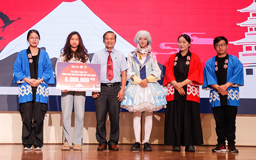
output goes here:
{"type": "Polygon", "coordinates": [[[74,91],[61,92],[62,124],[65,139],[72,146],[71,116],[73,110],[74,91]]]}

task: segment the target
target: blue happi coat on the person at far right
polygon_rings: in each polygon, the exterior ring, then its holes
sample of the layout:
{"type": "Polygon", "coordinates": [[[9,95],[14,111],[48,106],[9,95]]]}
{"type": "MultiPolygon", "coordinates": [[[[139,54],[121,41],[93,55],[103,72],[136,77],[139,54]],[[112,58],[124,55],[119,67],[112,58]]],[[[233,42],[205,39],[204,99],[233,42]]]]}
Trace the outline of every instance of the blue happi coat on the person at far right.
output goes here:
{"type": "MultiPolygon", "coordinates": [[[[215,56],[216,57],[216,56],[215,56]]],[[[203,90],[210,90],[210,107],[220,106],[220,95],[210,85],[218,85],[215,74],[215,57],[205,63],[203,90]]],[[[243,86],[243,64],[233,55],[228,58],[227,82],[234,83],[228,87],[228,105],[239,106],[239,86],[243,86]]]]}

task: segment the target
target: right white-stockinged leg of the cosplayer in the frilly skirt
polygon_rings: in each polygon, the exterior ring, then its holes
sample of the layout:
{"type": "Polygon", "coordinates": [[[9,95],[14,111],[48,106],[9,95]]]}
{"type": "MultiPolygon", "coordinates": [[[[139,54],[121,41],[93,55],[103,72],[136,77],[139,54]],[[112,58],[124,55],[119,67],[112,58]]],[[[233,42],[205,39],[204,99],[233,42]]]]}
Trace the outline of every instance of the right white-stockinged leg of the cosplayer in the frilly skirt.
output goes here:
{"type": "Polygon", "coordinates": [[[146,112],[145,111],[145,140],[144,143],[149,143],[149,138],[152,130],[153,125],[153,112],[146,112]]]}

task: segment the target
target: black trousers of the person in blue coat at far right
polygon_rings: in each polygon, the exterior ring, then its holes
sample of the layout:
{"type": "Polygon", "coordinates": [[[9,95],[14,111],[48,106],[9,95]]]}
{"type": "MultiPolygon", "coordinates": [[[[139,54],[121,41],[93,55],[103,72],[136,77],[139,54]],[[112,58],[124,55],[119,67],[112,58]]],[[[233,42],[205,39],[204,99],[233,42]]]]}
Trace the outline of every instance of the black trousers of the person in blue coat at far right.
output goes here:
{"type": "Polygon", "coordinates": [[[216,134],[218,136],[217,142],[226,145],[225,141],[228,141],[228,145],[234,145],[236,142],[236,106],[220,106],[212,108],[215,123],[216,134]]]}

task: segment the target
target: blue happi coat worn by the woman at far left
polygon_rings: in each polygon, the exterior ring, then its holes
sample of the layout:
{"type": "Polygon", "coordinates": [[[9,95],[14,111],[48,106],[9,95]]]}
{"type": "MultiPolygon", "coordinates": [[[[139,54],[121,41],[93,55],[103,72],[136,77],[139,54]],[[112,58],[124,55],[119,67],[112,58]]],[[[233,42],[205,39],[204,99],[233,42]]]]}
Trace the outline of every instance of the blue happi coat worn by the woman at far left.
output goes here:
{"type": "MultiPolygon", "coordinates": [[[[13,65],[14,83],[18,83],[19,103],[29,102],[33,100],[32,87],[23,79],[30,79],[30,69],[28,62],[27,50],[22,50],[18,53],[13,65]]],[[[38,80],[41,78],[44,81],[37,86],[36,102],[47,103],[49,97],[48,84],[55,83],[51,60],[46,51],[41,50],[38,58],[38,80]]]]}

